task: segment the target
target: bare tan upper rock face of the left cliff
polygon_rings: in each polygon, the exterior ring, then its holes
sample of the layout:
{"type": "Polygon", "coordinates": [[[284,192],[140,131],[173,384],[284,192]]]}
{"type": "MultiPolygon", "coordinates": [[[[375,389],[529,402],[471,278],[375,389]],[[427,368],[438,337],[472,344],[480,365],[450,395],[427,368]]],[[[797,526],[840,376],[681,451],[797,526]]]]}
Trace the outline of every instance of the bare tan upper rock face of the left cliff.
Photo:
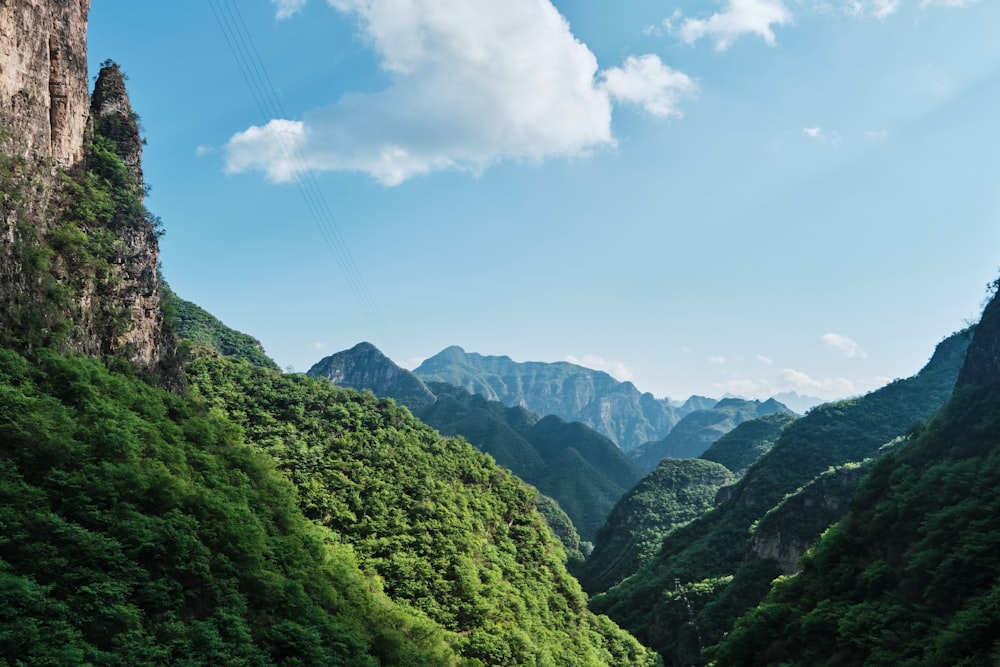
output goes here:
{"type": "Polygon", "coordinates": [[[87,127],[90,0],[0,0],[0,152],[70,166],[87,127]]]}

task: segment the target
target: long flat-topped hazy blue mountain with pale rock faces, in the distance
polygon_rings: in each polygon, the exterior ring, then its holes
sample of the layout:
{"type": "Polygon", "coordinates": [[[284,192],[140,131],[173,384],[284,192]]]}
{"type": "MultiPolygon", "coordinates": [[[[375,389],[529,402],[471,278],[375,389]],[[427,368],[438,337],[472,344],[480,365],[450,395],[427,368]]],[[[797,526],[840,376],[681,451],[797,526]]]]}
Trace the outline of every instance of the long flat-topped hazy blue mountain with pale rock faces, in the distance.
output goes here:
{"type": "Polygon", "coordinates": [[[582,422],[624,451],[662,438],[681,417],[711,400],[692,397],[677,406],[602,371],[567,362],[519,363],[457,346],[442,350],[413,372],[424,381],[464,387],[504,405],[582,422]]]}

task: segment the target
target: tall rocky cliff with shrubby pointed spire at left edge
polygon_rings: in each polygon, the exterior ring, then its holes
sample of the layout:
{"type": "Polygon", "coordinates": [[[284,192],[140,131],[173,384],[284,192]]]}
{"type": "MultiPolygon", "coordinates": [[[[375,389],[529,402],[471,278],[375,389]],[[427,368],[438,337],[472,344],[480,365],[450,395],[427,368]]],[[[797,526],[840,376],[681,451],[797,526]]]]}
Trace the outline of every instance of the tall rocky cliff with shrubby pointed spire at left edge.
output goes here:
{"type": "Polygon", "coordinates": [[[0,343],[159,373],[160,308],[142,140],[118,66],[87,90],[89,0],[0,1],[0,343]]]}

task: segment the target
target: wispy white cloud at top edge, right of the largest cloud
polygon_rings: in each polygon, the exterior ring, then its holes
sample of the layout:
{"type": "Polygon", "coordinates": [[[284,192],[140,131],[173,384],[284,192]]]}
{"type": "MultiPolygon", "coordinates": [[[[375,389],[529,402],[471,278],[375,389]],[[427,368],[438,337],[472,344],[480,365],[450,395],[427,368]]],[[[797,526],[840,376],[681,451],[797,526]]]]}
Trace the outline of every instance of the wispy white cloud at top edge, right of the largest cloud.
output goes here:
{"type": "MultiPolygon", "coordinates": [[[[715,41],[717,50],[725,51],[741,35],[759,35],[773,46],[771,26],[791,22],[792,14],[781,0],[727,0],[723,11],[707,19],[685,19],[677,32],[687,44],[709,37],[715,41]]],[[[664,25],[670,29],[672,21],[665,21],[664,25]]]]}

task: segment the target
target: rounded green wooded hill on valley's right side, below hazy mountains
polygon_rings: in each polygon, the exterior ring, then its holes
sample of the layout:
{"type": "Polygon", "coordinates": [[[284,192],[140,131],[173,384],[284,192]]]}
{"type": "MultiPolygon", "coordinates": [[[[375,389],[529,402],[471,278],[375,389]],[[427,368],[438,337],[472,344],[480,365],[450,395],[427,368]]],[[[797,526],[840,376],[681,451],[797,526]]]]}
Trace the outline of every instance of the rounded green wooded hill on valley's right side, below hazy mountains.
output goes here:
{"type": "Polygon", "coordinates": [[[597,532],[593,553],[576,571],[584,590],[600,593],[634,574],[670,531],[710,510],[719,489],[732,480],[729,470],[711,461],[661,461],[618,501],[597,532]]]}

